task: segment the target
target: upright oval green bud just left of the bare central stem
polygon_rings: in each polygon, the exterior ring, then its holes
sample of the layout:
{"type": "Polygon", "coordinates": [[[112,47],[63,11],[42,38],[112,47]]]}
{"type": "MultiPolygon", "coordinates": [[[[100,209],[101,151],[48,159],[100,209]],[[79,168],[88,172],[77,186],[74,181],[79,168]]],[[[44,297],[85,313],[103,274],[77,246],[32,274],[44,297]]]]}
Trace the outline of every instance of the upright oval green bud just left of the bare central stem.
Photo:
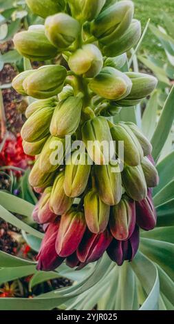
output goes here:
{"type": "Polygon", "coordinates": [[[76,132],[80,123],[82,101],[78,97],[68,97],[58,103],[50,124],[52,136],[64,137],[76,132]]]}

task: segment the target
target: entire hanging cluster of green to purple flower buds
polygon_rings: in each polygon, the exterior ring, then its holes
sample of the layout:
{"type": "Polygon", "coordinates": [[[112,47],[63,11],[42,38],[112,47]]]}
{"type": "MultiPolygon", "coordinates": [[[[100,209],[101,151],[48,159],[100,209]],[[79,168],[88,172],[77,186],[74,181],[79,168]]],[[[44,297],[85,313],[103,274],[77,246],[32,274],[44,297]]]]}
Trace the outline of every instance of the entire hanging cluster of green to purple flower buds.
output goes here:
{"type": "Polygon", "coordinates": [[[13,81],[19,93],[37,99],[28,106],[21,130],[25,153],[36,155],[30,184],[42,194],[33,212],[34,220],[45,224],[37,267],[54,270],[64,260],[83,267],[105,251],[122,265],[138,250],[139,227],[151,230],[156,223],[151,188],[158,174],[151,143],[134,123],[108,118],[140,103],[157,84],[150,75],[125,72],[125,52],[140,39],[140,22],[133,19],[131,1],[27,3],[45,18],[45,26],[19,32],[17,50],[38,61],[63,54],[69,65],[68,71],[54,64],[27,70],[13,81]],[[83,141],[86,150],[73,148],[69,163],[62,164],[55,142],[66,159],[65,136],[71,136],[71,144],[83,141]],[[109,161],[103,141],[116,143],[109,161]],[[57,163],[51,162],[52,154],[57,163]],[[123,170],[118,163],[113,172],[118,157],[123,170]]]}

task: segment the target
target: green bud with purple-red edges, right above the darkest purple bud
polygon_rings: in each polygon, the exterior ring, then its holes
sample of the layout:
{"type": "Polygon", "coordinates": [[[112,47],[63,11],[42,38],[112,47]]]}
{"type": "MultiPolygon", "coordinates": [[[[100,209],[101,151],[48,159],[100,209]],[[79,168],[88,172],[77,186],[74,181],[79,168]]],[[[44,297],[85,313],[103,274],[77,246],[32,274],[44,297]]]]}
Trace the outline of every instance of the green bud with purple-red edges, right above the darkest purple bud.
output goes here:
{"type": "Polygon", "coordinates": [[[111,234],[118,241],[129,239],[135,229],[135,221],[135,201],[123,196],[120,203],[111,208],[109,219],[111,234]]]}

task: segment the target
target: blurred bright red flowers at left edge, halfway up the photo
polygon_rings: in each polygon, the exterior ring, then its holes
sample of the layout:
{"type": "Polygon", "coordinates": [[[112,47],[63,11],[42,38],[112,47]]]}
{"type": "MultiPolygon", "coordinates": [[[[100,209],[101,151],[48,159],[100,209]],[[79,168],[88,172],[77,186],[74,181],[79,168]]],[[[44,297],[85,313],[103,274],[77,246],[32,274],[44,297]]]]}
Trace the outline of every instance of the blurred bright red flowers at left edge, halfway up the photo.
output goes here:
{"type": "Polygon", "coordinates": [[[26,169],[34,157],[28,156],[23,152],[21,135],[10,134],[3,144],[0,152],[0,166],[13,165],[17,168],[26,169]]]}

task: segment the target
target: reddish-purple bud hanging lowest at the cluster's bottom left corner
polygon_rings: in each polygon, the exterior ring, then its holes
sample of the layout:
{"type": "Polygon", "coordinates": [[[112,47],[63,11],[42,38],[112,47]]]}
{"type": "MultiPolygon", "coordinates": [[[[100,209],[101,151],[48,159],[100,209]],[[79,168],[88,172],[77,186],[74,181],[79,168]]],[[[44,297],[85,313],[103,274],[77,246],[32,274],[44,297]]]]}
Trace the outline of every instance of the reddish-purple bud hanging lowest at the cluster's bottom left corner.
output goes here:
{"type": "Polygon", "coordinates": [[[37,270],[53,271],[64,261],[64,258],[58,256],[55,249],[58,227],[59,221],[50,223],[47,227],[45,236],[41,243],[39,254],[37,256],[37,270]]]}

